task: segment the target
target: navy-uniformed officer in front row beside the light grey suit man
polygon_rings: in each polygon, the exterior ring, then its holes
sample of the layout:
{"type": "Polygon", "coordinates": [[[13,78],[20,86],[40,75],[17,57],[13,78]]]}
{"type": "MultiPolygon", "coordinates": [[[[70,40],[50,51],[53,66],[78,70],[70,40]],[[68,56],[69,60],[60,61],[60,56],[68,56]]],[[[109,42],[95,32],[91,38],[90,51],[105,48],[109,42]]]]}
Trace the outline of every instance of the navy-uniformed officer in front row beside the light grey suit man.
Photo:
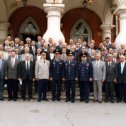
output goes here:
{"type": "Polygon", "coordinates": [[[87,62],[87,53],[81,53],[81,62],[78,65],[78,78],[80,84],[80,101],[89,102],[89,81],[92,81],[93,68],[90,62],[87,62]]]}

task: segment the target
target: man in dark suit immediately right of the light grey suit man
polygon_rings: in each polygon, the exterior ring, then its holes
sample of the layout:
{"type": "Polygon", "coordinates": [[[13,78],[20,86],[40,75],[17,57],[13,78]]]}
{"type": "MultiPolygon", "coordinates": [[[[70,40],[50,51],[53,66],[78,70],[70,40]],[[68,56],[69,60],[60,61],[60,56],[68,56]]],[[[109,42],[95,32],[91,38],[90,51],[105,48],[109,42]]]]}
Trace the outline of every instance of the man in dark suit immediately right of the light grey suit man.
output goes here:
{"type": "Polygon", "coordinates": [[[105,79],[105,102],[110,100],[114,103],[114,83],[116,81],[116,63],[113,61],[112,54],[107,55],[106,79],[105,79]]]}

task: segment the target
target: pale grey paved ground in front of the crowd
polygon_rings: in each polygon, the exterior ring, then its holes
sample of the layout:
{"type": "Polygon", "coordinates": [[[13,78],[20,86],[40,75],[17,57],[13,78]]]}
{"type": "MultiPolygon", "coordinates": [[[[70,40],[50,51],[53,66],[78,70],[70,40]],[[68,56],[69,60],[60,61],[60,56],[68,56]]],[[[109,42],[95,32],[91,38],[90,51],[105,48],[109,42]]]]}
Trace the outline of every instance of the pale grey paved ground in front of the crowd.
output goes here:
{"type": "Polygon", "coordinates": [[[0,126],[126,126],[126,104],[5,100],[0,126]]]}

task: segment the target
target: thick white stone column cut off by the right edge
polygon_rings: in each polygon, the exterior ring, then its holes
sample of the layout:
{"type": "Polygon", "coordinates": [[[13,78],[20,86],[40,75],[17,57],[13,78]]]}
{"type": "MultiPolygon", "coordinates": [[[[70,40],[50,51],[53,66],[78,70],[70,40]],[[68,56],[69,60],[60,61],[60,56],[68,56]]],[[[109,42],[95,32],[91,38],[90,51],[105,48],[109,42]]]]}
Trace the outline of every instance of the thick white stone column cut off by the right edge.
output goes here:
{"type": "Polygon", "coordinates": [[[120,32],[115,40],[116,47],[119,49],[121,44],[126,45],[126,6],[119,7],[115,13],[120,15],[120,32]]]}

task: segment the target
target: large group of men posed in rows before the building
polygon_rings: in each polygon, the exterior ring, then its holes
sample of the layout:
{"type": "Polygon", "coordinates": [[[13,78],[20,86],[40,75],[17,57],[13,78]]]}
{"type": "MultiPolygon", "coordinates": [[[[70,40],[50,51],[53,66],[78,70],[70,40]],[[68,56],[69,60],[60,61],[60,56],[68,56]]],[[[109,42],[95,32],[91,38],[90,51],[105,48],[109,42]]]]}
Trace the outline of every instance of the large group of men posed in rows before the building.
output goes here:
{"type": "Polygon", "coordinates": [[[66,102],[75,102],[76,84],[79,85],[80,102],[89,102],[90,84],[93,85],[94,102],[126,103],[125,45],[116,49],[107,37],[98,46],[94,40],[89,45],[80,38],[69,44],[48,42],[37,37],[37,42],[26,38],[25,42],[8,36],[0,44],[0,100],[4,99],[7,84],[8,101],[18,99],[21,85],[21,101],[33,100],[33,83],[38,102],[47,101],[47,88],[51,85],[52,101],[61,100],[62,84],[66,102]]]}

